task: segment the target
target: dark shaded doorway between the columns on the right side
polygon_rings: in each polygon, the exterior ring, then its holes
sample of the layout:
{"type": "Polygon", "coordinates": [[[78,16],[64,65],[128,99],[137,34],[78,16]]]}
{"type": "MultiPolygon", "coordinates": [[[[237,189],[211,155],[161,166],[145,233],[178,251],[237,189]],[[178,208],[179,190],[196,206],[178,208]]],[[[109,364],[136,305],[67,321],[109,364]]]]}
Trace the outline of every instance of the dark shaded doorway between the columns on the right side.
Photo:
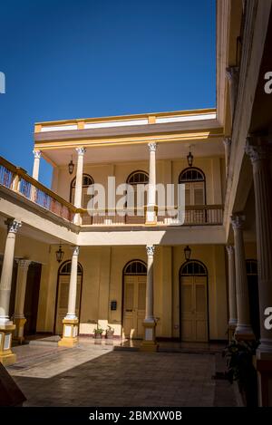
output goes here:
{"type": "Polygon", "coordinates": [[[250,323],[256,338],[260,336],[259,307],[258,307],[258,284],[257,284],[257,260],[246,260],[248,276],[248,298],[250,323]]]}

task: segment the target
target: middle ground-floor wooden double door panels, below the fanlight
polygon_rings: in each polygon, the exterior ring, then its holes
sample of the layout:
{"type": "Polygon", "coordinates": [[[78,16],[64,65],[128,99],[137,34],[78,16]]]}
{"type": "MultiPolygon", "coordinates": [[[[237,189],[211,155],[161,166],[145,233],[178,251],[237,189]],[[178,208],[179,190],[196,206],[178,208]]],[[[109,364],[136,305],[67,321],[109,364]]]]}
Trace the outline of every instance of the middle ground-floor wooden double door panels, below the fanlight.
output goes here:
{"type": "Polygon", "coordinates": [[[124,276],[123,333],[126,338],[142,338],[145,316],[146,275],[124,276]]]}

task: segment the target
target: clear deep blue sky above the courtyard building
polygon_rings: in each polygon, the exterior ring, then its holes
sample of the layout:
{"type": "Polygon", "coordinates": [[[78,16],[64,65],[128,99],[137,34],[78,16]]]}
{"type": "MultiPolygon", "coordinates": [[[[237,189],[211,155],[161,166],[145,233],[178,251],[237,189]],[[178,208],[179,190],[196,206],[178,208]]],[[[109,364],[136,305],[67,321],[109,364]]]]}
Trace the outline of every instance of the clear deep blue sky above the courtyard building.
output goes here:
{"type": "Polygon", "coordinates": [[[31,173],[35,121],[215,107],[215,3],[2,0],[0,155],[31,173]]]}

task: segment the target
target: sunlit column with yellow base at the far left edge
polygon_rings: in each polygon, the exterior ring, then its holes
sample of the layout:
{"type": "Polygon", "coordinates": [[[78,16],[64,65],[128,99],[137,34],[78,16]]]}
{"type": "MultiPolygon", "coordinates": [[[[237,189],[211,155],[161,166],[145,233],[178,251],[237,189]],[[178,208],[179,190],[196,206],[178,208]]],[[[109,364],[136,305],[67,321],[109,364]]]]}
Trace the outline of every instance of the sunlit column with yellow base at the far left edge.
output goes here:
{"type": "Polygon", "coordinates": [[[21,222],[6,220],[7,237],[5,241],[4,262],[0,281],[0,362],[5,366],[15,363],[16,355],[12,352],[12,333],[15,324],[9,318],[9,303],[15,257],[15,236],[21,222]]]}

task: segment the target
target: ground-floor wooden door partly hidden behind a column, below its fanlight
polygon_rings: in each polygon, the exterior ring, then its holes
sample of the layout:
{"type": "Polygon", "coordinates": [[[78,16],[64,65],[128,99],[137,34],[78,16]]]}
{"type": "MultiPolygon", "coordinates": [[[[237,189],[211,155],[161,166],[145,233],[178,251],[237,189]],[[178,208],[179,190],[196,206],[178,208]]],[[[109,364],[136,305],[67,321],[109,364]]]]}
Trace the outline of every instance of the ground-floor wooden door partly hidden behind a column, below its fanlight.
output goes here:
{"type": "MultiPolygon", "coordinates": [[[[69,284],[70,284],[70,275],[59,276],[57,312],[56,312],[55,330],[54,330],[54,333],[57,335],[61,335],[63,333],[63,319],[65,315],[68,313],[69,284]]],[[[76,288],[76,304],[75,304],[75,314],[77,315],[78,318],[80,314],[81,289],[82,289],[82,276],[78,275],[77,288],[76,288]]]]}

